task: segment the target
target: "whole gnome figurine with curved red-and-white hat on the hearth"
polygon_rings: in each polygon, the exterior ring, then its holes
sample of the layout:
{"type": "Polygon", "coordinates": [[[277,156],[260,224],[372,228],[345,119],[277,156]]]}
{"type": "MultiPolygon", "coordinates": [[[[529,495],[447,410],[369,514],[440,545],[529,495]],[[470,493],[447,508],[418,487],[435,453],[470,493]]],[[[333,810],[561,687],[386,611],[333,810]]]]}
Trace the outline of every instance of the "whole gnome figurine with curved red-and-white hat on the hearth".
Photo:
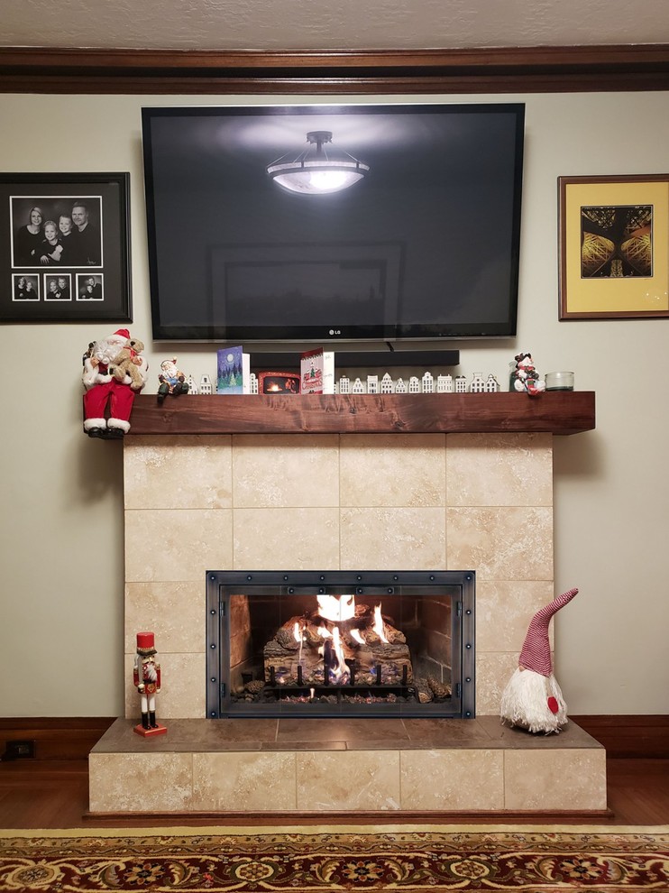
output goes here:
{"type": "Polygon", "coordinates": [[[501,696],[502,723],[518,725],[528,732],[559,732],[567,723],[567,705],[553,675],[548,624],[554,613],[571,602],[578,589],[558,595],[529,624],[518,669],[501,696]]]}

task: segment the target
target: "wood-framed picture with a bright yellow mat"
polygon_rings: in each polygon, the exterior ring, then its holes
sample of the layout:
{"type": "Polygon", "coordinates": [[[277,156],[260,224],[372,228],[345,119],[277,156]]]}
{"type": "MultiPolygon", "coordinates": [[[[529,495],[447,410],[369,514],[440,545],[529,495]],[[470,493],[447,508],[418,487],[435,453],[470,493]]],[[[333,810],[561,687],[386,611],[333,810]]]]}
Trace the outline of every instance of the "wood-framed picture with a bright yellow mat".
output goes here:
{"type": "Polygon", "coordinates": [[[560,319],[669,317],[669,174],[560,177],[560,319]]]}

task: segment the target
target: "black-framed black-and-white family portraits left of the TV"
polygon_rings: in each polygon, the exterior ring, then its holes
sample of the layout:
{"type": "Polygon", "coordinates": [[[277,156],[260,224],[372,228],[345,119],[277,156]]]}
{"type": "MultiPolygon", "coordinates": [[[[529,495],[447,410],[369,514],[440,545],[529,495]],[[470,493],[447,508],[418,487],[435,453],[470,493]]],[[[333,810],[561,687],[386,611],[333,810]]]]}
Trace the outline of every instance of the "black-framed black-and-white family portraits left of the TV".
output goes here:
{"type": "Polygon", "coordinates": [[[129,188],[127,172],[0,173],[0,321],[133,321],[129,188]]]}

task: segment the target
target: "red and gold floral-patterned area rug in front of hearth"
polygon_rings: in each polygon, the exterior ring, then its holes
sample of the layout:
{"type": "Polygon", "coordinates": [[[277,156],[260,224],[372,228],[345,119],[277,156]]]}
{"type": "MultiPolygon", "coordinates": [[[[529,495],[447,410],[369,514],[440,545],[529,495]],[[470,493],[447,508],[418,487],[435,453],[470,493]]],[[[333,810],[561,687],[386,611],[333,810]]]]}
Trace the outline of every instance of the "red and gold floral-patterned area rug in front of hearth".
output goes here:
{"type": "Polygon", "coordinates": [[[669,891],[669,828],[0,832],[0,889],[669,891]]]}

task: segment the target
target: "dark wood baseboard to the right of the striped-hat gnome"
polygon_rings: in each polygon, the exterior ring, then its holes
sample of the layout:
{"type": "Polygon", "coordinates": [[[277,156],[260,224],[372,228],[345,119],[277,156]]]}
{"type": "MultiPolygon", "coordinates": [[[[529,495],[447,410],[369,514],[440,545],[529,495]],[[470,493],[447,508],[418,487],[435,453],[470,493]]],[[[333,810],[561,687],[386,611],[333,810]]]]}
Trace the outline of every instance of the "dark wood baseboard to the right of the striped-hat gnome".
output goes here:
{"type": "Polygon", "coordinates": [[[599,741],[608,757],[669,759],[669,715],[607,713],[570,719],[599,741]]]}

